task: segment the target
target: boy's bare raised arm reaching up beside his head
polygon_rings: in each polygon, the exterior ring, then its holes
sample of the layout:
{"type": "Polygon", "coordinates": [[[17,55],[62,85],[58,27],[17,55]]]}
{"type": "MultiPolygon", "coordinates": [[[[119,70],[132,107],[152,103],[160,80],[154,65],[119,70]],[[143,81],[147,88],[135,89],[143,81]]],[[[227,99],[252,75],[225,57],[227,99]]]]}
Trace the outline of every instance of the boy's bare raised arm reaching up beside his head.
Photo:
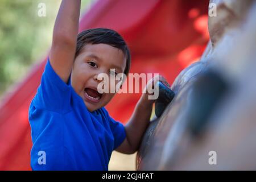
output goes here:
{"type": "Polygon", "coordinates": [[[54,71],[68,82],[75,59],[81,0],[63,0],[55,21],[49,60],[54,71]]]}

